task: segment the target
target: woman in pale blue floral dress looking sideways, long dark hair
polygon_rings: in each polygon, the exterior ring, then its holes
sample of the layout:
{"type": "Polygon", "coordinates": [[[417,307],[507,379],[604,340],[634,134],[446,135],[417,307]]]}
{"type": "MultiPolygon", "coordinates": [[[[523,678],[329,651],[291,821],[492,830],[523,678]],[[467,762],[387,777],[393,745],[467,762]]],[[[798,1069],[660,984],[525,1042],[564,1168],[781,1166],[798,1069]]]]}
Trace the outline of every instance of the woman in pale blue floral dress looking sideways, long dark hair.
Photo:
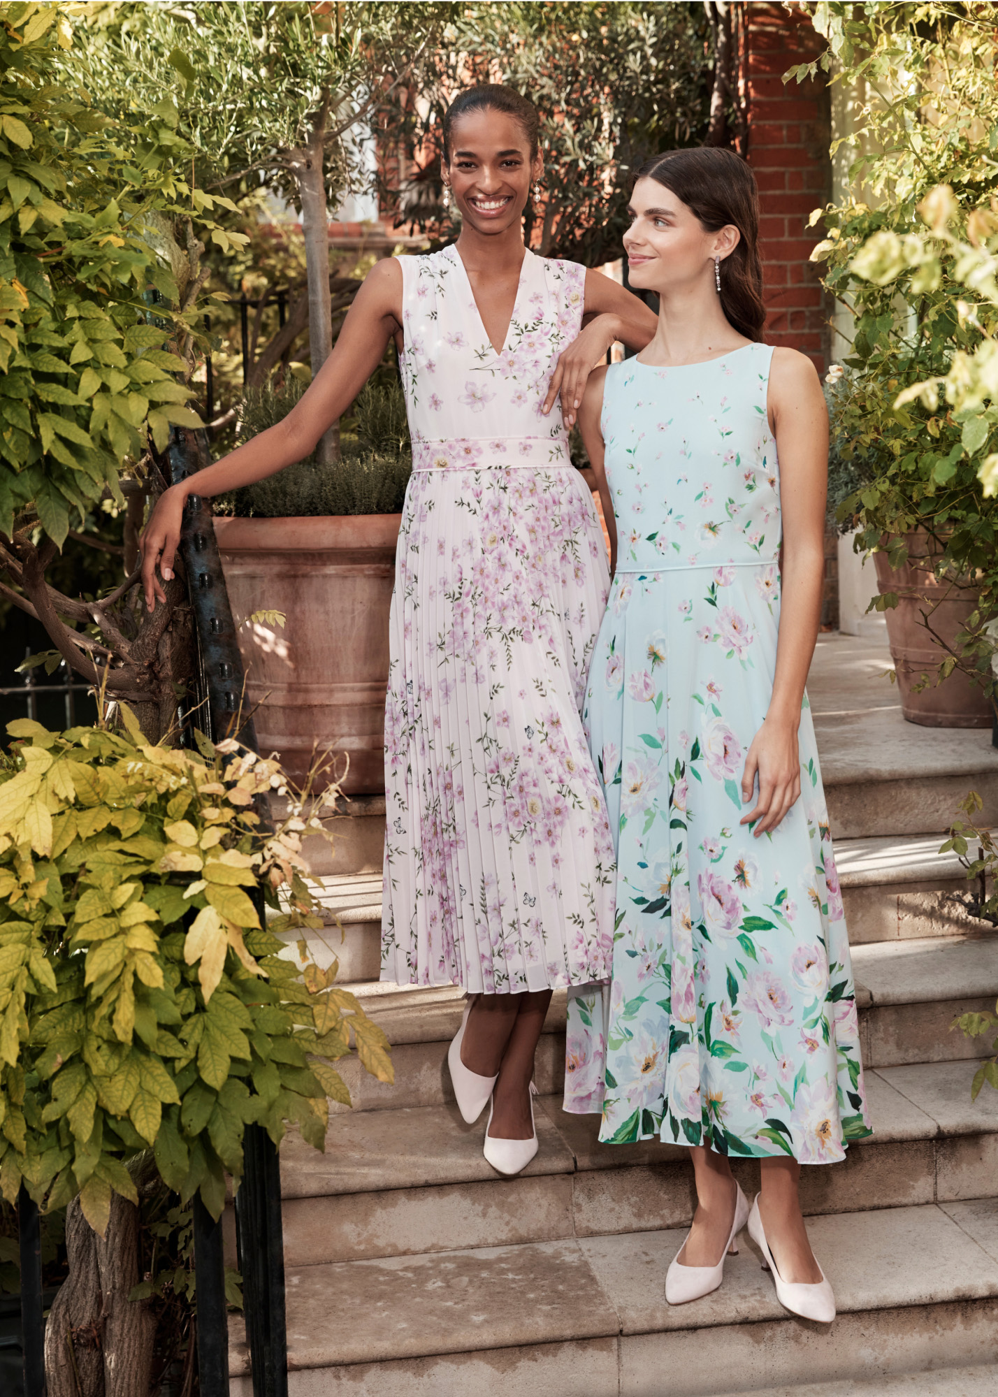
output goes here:
{"type": "Polygon", "coordinates": [[[616,841],[616,936],[609,989],[569,997],[565,1105],[602,1111],[609,1143],[689,1146],[697,1208],[671,1303],[721,1284],[748,1222],[780,1301],[827,1322],[800,1166],[869,1134],[804,689],[827,415],[811,360],[762,342],[748,165],[661,155],[630,217],[630,285],[658,293],[658,330],[590,377],[580,412],[615,518],[583,717],[616,841]],[[760,1160],[751,1210],[731,1155],[760,1160]]]}

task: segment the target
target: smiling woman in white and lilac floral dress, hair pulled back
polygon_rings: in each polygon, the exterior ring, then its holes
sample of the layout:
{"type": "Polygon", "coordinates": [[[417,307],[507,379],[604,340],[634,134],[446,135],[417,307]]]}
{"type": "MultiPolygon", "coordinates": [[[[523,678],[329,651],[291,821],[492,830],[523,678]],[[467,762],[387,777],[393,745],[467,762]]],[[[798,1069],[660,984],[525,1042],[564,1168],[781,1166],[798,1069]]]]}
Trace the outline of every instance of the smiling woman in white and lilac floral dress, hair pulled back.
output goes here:
{"type": "Polygon", "coordinates": [[[394,338],[412,478],[390,619],[382,978],[474,996],[450,1071],[465,1120],[492,1102],[485,1155],[502,1173],[537,1153],[534,1051],[552,989],[609,974],[614,852],[580,719],[609,578],[567,427],[607,348],[642,348],[656,326],[607,277],[524,247],[537,133],[510,88],[456,99],[442,165],[457,242],[377,263],[301,402],[166,490],[143,538],[152,608],[191,489],[219,495],[301,461],[394,338]]]}

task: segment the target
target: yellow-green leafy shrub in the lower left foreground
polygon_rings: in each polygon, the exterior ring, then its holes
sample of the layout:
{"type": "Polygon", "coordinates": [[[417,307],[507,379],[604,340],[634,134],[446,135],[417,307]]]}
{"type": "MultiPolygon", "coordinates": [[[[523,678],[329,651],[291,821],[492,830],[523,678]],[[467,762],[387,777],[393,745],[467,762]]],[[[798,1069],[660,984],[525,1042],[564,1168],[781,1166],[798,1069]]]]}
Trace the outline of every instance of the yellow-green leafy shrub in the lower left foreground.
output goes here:
{"type": "Polygon", "coordinates": [[[391,1080],[335,961],[302,972],[275,935],[320,925],[301,800],[274,833],[254,809],[287,793],[277,764],[231,740],[152,746],[122,715],[122,732],[13,722],[0,775],[0,1190],[13,1203],[24,1180],[48,1211],[78,1193],[98,1232],[112,1192],[137,1201],[123,1161],[148,1147],[214,1217],[249,1122],[280,1143],[295,1120],[323,1148],[351,1031],[391,1080]],[[291,909],[264,928],[278,890],[291,909]]]}

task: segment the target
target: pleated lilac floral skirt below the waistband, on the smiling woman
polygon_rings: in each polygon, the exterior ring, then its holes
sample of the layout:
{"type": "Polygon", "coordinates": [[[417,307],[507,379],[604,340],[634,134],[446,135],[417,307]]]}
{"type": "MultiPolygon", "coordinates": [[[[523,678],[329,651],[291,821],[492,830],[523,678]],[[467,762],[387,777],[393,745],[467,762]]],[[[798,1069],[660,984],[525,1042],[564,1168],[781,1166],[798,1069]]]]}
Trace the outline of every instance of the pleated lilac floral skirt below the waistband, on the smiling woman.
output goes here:
{"type": "Polygon", "coordinates": [[[609,585],[570,467],[414,471],[390,616],[382,979],[609,975],[614,844],[580,710],[609,585]]]}

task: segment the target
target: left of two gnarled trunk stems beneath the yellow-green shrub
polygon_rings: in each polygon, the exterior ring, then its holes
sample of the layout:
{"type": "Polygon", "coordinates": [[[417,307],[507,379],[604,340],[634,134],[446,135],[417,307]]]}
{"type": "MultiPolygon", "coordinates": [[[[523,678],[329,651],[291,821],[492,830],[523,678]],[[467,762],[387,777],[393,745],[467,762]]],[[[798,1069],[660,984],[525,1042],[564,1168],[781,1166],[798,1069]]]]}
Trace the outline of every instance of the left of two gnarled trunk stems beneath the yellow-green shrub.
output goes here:
{"type": "Polygon", "coordinates": [[[105,1397],[96,1234],[82,1215],[80,1199],[66,1210],[66,1250],[68,1277],[45,1326],[48,1397],[105,1397]]]}

